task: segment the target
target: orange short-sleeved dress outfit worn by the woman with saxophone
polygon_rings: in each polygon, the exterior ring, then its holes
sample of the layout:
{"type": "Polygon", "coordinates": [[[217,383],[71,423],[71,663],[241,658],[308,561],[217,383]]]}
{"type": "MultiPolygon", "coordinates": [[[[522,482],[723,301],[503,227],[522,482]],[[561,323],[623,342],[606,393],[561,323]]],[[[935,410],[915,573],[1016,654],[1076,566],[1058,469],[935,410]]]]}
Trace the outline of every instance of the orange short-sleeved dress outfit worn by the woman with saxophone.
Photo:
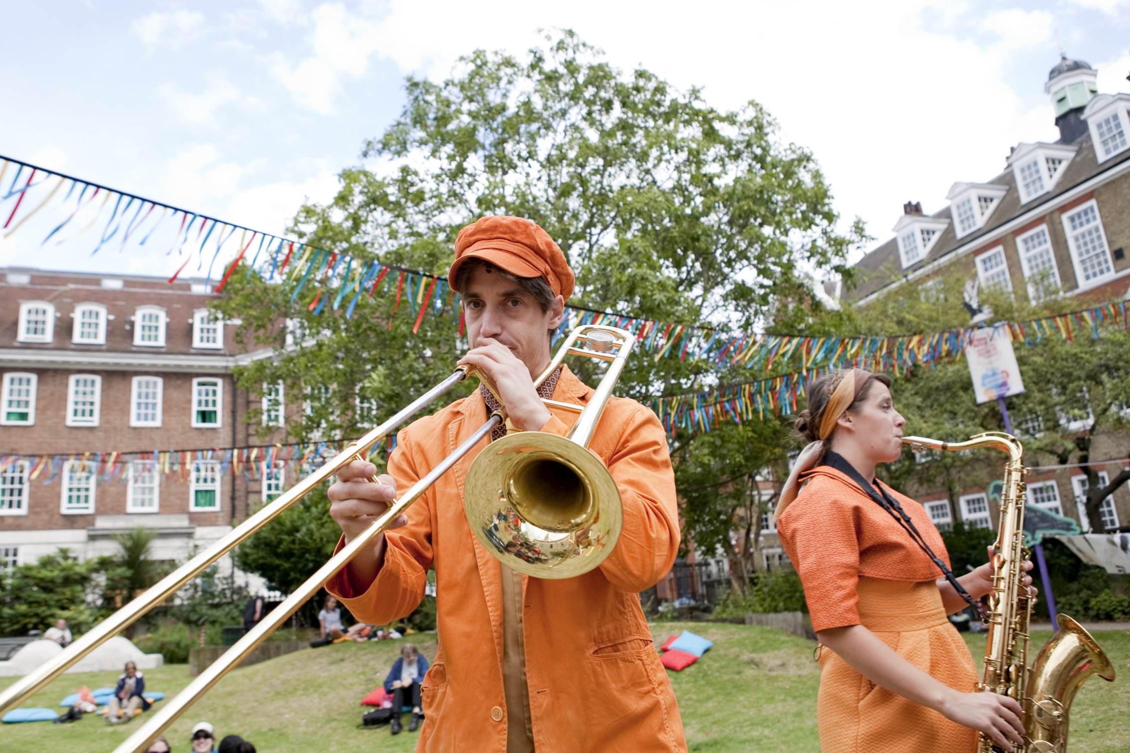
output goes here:
{"type": "MultiPolygon", "coordinates": [[[[806,480],[777,533],[805,585],[812,629],[862,624],[919,669],[955,690],[975,690],[973,657],[946,619],[937,566],[843,473],[819,466],[806,480]]],[[[884,489],[948,566],[941,535],[922,506],[884,489]]],[[[976,750],[975,730],[875,685],[823,646],[819,663],[823,753],[976,750]]]]}

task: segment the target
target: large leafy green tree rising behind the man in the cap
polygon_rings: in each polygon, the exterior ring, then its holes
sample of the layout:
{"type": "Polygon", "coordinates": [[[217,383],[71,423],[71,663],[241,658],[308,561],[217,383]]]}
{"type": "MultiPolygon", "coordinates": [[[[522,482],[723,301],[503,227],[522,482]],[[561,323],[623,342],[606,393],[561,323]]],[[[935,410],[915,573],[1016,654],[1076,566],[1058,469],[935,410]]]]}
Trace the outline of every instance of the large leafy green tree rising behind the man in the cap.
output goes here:
{"type": "MultiPolygon", "coordinates": [[[[568,255],[577,274],[571,303],[664,322],[760,326],[782,301],[811,299],[814,271],[849,273],[847,252],[862,240],[859,221],[837,230],[811,154],[782,139],[759,105],[722,111],[698,89],[621,72],[571,32],[522,56],[475,52],[443,81],[409,78],[403,111],[363,156],[370,166],[342,170],[331,202],[298,212],[292,229],[307,244],[444,273],[460,227],[519,214],[568,255]]],[[[308,415],[288,424],[294,437],[358,434],[372,422],[358,393],[388,415],[467,348],[450,315],[426,315],[412,334],[411,316],[392,315],[391,294],[363,296],[351,318],[332,304],[312,314],[315,288],[295,296],[236,273],[220,304],[242,319],[247,344],[275,349],[242,367],[241,383],[281,382],[289,400],[310,396],[308,415]],[[305,347],[286,347],[281,317],[305,347]]],[[[588,366],[579,371],[592,376],[588,366]]],[[[617,392],[645,399],[746,374],[640,353],[617,392]]],[[[718,479],[748,476],[729,458],[746,469],[783,453],[719,452],[718,441],[698,448],[680,435],[672,450],[718,479]]]]}

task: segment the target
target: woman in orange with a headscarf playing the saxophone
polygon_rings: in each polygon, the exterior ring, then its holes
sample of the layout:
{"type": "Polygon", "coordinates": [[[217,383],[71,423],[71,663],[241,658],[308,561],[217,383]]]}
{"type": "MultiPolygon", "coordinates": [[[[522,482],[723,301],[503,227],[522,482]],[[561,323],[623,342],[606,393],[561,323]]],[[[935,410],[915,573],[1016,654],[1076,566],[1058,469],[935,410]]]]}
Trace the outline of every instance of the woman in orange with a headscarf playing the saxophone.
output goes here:
{"type": "Polygon", "coordinates": [[[954,577],[923,507],[876,479],[902,453],[889,387],[862,369],[814,380],[796,422],[811,444],[776,510],[820,642],[820,750],[970,753],[980,730],[1012,751],[1023,710],[974,692],[973,658],[946,618],[991,590],[991,564],[954,577]]]}

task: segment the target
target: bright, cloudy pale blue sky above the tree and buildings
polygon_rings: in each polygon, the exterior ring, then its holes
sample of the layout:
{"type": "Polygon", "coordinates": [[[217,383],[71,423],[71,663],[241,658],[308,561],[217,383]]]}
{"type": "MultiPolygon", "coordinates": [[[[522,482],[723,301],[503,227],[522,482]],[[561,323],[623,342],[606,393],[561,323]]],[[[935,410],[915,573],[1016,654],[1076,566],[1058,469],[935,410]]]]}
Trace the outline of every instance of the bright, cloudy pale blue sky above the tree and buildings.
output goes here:
{"type": "MultiPolygon", "coordinates": [[[[1098,68],[1101,91],[1130,91],[1130,0],[7,5],[0,155],[271,234],[359,164],[405,76],[524,51],[539,28],[573,28],[718,107],[760,102],[879,240],[904,201],[935,211],[1010,147],[1057,138],[1043,85],[1060,44],[1098,68]]],[[[164,273],[172,260],[16,235],[0,264],[164,273]]]]}

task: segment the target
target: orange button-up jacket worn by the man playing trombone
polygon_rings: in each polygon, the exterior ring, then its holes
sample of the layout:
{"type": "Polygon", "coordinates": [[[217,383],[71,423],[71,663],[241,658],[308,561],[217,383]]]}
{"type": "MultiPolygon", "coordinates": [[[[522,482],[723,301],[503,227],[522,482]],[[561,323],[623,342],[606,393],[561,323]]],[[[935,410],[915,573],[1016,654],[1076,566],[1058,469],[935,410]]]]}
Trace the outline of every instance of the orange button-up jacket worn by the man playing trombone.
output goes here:
{"type": "MultiPolygon", "coordinates": [[[[554,399],[584,404],[592,393],[566,368],[554,399]]],[[[551,412],[544,430],[566,434],[576,415],[551,412]]],[[[398,490],[435,467],[486,419],[476,393],[401,431],[389,458],[398,490]]],[[[327,584],[358,620],[384,624],[416,608],[435,566],[440,649],[424,677],[417,751],[506,750],[502,575],[463,514],[463,481],[486,445],[408,509],[407,526],[385,534],[384,562],[367,590],[355,590],[344,572],[327,584]]],[[[590,449],[619,488],[624,529],[608,559],[583,576],[522,577],[534,746],[538,753],[686,751],[675,693],[638,598],[670,570],[679,545],[667,439],[654,413],[614,397],[590,449]]]]}

